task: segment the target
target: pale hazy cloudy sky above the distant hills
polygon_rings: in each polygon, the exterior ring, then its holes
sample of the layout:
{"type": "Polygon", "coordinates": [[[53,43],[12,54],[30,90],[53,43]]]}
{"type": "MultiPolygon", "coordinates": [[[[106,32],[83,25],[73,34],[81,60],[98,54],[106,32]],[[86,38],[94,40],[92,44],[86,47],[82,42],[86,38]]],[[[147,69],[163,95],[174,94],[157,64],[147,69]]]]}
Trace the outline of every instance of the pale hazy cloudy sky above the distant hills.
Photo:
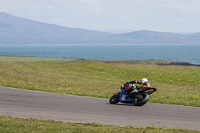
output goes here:
{"type": "Polygon", "coordinates": [[[0,12],[106,32],[200,32],[200,0],[0,0],[0,12]]]}

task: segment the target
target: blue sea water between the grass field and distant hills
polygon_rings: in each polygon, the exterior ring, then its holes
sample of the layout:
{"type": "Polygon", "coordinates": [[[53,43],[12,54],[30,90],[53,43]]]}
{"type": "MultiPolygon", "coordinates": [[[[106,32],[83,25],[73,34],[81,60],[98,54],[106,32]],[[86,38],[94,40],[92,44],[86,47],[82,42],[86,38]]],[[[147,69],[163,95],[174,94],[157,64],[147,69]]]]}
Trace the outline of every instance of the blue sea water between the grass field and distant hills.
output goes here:
{"type": "Polygon", "coordinates": [[[200,45],[0,46],[0,55],[112,60],[160,59],[200,64],[200,45]]]}

